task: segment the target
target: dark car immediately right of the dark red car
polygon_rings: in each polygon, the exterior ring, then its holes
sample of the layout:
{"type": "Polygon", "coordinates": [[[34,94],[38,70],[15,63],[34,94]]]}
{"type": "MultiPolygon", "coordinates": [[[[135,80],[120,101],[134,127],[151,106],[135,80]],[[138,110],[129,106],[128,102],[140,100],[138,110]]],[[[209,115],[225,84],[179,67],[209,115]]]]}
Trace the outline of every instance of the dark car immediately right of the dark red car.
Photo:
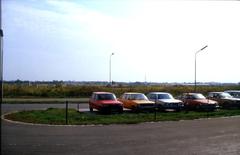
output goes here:
{"type": "Polygon", "coordinates": [[[234,98],[226,92],[209,92],[208,98],[217,101],[222,108],[240,108],[240,99],[234,98]]]}

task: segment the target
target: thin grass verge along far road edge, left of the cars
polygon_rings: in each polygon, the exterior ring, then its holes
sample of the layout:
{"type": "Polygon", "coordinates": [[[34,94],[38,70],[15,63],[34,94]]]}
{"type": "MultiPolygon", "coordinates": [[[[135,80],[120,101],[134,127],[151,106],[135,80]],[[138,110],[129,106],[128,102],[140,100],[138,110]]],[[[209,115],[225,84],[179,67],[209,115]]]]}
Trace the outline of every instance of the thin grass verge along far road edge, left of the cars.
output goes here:
{"type": "Polygon", "coordinates": [[[88,103],[89,98],[4,98],[3,103],[88,103]]]}

